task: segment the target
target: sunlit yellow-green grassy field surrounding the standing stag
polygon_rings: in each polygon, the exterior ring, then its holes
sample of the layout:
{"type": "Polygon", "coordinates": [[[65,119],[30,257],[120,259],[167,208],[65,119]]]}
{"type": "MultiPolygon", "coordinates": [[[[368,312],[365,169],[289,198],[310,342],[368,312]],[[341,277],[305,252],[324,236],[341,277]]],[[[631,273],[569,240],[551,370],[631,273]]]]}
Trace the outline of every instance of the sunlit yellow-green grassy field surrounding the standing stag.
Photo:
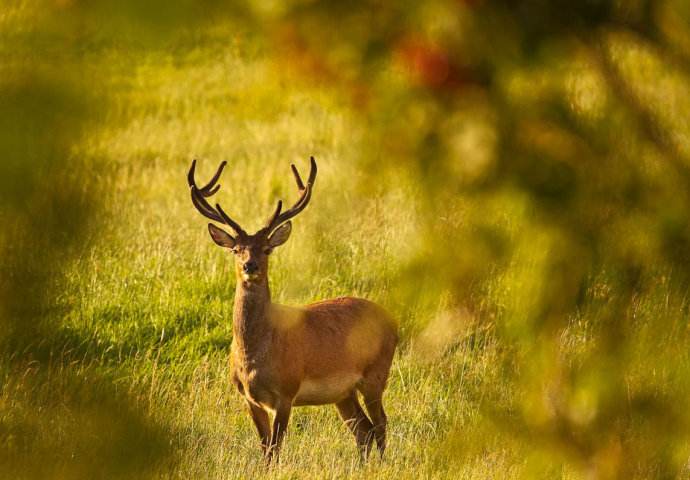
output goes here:
{"type": "MultiPolygon", "coordinates": [[[[24,27],[40,23],[42,14],[26,2],[17,5],[0,13],[0,33],[20,45],[24,27]]],[[[61,251],[65,258],[56,263],[58,273],[46,284],[37,282],[49,292],[41,315],[52,325],[51,336],[37,340],[38,347],[12,352],[2,363],[0,448],[6,453],[0,452],[0,476],[89,478],[105,471],[179,479],[569,479],[609,478],[607,471],[626,471],[621,467],[626,463],[634,464],[628,471],[639,478],[688,474],[688,438],[667,438],[664,426],[684,425],[686,415],[669,413],[667,424],[646,420],[656,399],[682,400],[689,393],[689,305],[677,275],[682,268],[645,270],[641,287],[620,309],[625,325],[615,334],[625,335],[628,343],[613,354],[602,344],[610,334],[607,302],[618,312],[611,286],[618,284],[606,278],[605,269],[588,278],[577,308],[563,314],[564,328],[539,330],[534,319],[541,318],[545,285],[561,279],[549,255],[577,244],[548,221],[535,220],[538,215],[520,186],[490,194],[427,195],[429,186],[422,185],[414,168],[396,168],[391,159],[376,163],[385,149],[372,154],[379,145],[348,99],[323,85],[295,80],[285,63],[275,61],[265,39],[235,24],[183,31],[155,48],[122,48],[99,42],[98,35],[86,38],[90,43],[76,42],[79,48],[63,52],[64,58],[56,54],[55,63],[39,72],[62,75],[68,70],[64,65],[77,61],[85,84],[99,85],[74,96],[88,95],[99,108],[67,148],[68,176],[88,180],[79,193],[91,199],[91,215],[83,238],[61,251]],[[299,305],[354,295],[394,314],[401,342],[384,397],[390,440],[385,459],[361,465],[334,407],[298,408],[280,465],[266,468],[244,402],[229,378],[233,258],[209,238],[207,221],[190,201],[186,174],[198,159],[197,179],[203,182],[227,160],[219,202],[253,231],[278,199],[296,197],[290,163],[306,172],[310,155],[319,165],[315,192],[294,221],[288,243],[272,255],[273,300],[299,305]],[[486,231],[453,236],[462,231],[458,225],[473,225],[478,218],[505,234],[494,242],[497,250],[501,242],[511,244],[498,267],[482,264],[489,256],[481,250],[485,244],[473,241],[478,237],[472,235],[490,236],[486,231]],[[438,248],[439,238],[457,248],[438,248]],[[483,280],[464,283],[472,275],[483,280]],[[553,344],[544,341],[551,334],[553,344]],[[27,360],[27,351],[39,357],[47,352],[47,360],[31,355],[27,360]],[[562,377],[572,383],[559,384],[562,377]],[[611,378],[622,382],[609,386],[611,378]],[[607,403],[620,398],[627,407],[607,403]],[[638,398],[647,403],[639,406],[638,398]],[[118,421],[109,419],[109,409],[118,421]],[[96,414],[90,416],[91,411],[96,414]],[[571,422],[565,433],[558,430],[562,418],[571,422]],[[130,435],[123,419],[134,425],[132,432],[141,427],[160,445],[153,448],[148,437],[130,435]],[[622,427],[607,430],[610,425],[622,427]],[[596,435],[609,430],[611,439],[596,435]],[[561,434],[565,440],[559,443],[561,434]],[[124,458],[133,450],[118,441],[133,442],[142,457],[124,458]],[[591,451],[573,451],[573,445],[591,451]],[[118,456],[120,451],[127,453],[118,456]],[[639,453],[637,463],[623,458],[623,451],[639,453]],[[89,463],[98,460],[83,461],[83,452],[113,465],[101,469],[89,463]],[[24,457],[13,464],[13,455],[24,457]],[[585,464],[582,458],[593,460],[585,464]],[[678,468],[669,473],[659,467],[662,463],[678,468]]],[[[50,42],[40,41],[50,52],[50,42]]],[[[642,64],[639,58],[631,63],[642,64]]],[[[527,76],[514,80],[517,86],[511,88],[525,91],[549,81],[546,75],[541,83],[527,76]]],[[[591,112],[605,103],[597,81],[584,74],[567,79],[580,95],[572,100],[574,108],[591,110],[585,116],[595,117],[591,112]]],[[[668,91],[680,88],[678,78],[665,81],[668,91]]],[[[442,117],[444,112],[427,100],[415,104],[418,110],[401,111],[391,123],[409,120],[422,128],[442,117]]],[[[685,104],[674,105],[682,110],[685,104]]],[[[469,127],[462,114],[441,123],[442,134],[456,128],[465,132],[449,142],[458,155],[483,151],[491,143],[482,123],[486,119],[481,112],[477,118],[469,127]]],[[[51,125],[56,137],[59,123],[51,125]]],[[[416,134],[416,127],[412,130],[416,134]]],[[[550,134],[540,140],[548,144],[557,137],[550,134]]],[[[396,141],[403,151],[404,139],[384,139],[396,141]]],[[[656,178],[662,168],[655,162],[645,157],[639,168],[656,178]]],[[[449,168],[462,177],[471,176],[467,169],[474,167],[449,168]]],[[[664,195],[659,193],[660,202],[664,195]]],[[[652,242],[643,231],[647,221],[621,221],[611,244],[622,252],[647,249],[652,242]]],[[[38,246],[53,241],[39,237],[38,246]]],[[[11,250],[0,242],[0,252],[5,251],[11,250]]],[[[568,255],[579,253],[568,250],[568,255]]],[[[567,281],[562,286],[567,294],[571,286],[567,281]]]]}

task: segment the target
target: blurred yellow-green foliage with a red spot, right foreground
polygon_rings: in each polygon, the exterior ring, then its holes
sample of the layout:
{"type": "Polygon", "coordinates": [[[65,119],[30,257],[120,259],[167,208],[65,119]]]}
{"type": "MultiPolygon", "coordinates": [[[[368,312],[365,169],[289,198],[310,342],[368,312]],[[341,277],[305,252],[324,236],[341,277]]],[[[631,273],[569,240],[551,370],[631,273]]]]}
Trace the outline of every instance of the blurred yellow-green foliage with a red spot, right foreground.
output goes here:
{"type": "Polygon", "coordinates": [[[280,16],[291,62],[368,122],[370,171],[424,187],[424,244],[401,283],[430,272],[457,322],[496,319],[511,400],[486,415],[519,439],[528,477],[560,462],[591,478],[687,474],[689,13],[479,0],[280,16]],[[641,322],[660,284],[682,313],[641,322]],[[662,353],[668,331],[684,347],[662,353]],[[673,377],[663,390],[658,371],[673,377]]]}

